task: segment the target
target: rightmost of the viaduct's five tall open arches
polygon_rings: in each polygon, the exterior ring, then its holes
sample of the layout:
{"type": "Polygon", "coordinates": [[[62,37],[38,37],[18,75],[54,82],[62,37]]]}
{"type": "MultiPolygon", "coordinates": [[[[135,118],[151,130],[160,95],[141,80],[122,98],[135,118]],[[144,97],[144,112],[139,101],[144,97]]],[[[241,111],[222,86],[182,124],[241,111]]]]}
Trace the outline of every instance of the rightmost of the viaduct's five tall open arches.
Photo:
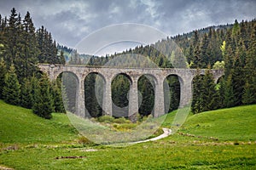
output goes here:
{"type": "Polygon", "coordinates": [[[165,113],[178,109],[181,101],[183,78],[177,74],[168,74],[163,83],[165,113]]]}

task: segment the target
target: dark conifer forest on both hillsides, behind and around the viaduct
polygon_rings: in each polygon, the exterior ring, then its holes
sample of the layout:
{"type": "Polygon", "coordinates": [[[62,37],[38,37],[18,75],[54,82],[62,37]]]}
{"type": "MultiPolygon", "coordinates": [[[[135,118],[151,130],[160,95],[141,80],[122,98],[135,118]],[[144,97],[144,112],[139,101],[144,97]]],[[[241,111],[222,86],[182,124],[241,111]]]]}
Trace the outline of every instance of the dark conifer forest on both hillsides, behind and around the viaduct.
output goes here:
{"type": "MultiPolygon", "coordinates": [[[[243,20],[241,23],[235,20],[232,25],[211,26],[166,37],[154,44],[127,49],[120,54],[97,57],[76,54],[74,49],[57,44],[44,26],[35,28],[29,12],[22,18],[15,8],[9,17],[0,15],[0,99],[12,105],[31,108],[38,116],[50,118],[53,111],[65,111],[61,79],[50,82],[39,71],[38,63],[65,64],[66,59],[69,64],[84,64],[89,57],[87,65],[105,65],[108,60],[122,54],[141,54],[162,68],[172,68],[174,62],[186,60],[185,65],[180,65],[182,68],[208,69],[206,75],[198,74],[193,80],[193,113],[256,104],[256,20],[243,20]],[[186,59],[172,50],[172,41],[181,48],[186,59]],[[71,53],[73,55],[69,57],[71,53]],[[224,69],[224,77],[217,84],[211,69],[224,69]]],[[[95,82],[94,74],[85,78],[85,105],[91,116],[102,116],[101,104],[96,99],[95,82]]],[[[165,99],[171,101],[170,105],[166,105],[166,112],[170,112],[178,108],[180,84],[175,76],[167,77],[166,82],[169,89],[165,90],[170,95],[165,99]]],[[[129,105],[129,88],[127,77],[119,75],[113,80],[112,98],[115,105],[129,105]]],[[[154,81],[141,77],[138,89],[142,94],[139,113],[148,116],[154,107],[154,81]]],[[[74,105],[74,101],[67,103],[74,105]]]]}

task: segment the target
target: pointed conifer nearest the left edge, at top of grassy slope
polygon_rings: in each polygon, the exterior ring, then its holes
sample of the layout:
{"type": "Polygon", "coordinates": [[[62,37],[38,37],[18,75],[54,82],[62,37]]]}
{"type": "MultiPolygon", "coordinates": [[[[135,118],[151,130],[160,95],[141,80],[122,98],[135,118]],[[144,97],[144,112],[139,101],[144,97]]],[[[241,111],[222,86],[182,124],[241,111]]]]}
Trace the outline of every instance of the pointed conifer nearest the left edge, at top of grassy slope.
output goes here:
{"type": "Polygon", "coordinates": [[[20,83],[15,73],[15,65],[9,67],[4,77],[3,99],[11,105],[20,105],[20,83]]]}

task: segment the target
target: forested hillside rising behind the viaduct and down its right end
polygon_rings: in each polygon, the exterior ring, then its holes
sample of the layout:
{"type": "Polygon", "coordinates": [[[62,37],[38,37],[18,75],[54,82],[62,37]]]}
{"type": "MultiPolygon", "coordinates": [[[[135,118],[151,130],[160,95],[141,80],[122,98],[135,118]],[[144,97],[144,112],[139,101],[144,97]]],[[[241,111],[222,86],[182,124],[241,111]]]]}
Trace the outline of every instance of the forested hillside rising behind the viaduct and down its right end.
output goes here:
{"type": "MultiPolygon", "coordinates": [[[[256,20],[241,21],[241,23],[235,20],[233,25],[212,26],[176,37],[166,37],[155,44],[128,49],[121,54],[107,55],[105,58],[93,56],[89,62],[85,63],[86,65],[105,65],[109,60],[121,55],[142,54],[156,65],[164,68],[172,68],[175,62],[184,63],[185,60],[185,65],[175,65],[175,67],[224,69],[225,75],[218,81],[218,85],[213,82],[211,71],[207,71],[205,76],[195,77],[192,111],[198,113],[236,105],[255,104],[255,34],[256,20]],[[180,51],[172,49],[173,41],[180,47],[183,55],[180,55],[180,51]]],[[[83,63],[83,61],[80,62],[83,63]]],[[[131,65],[137,65],[137,62],[136,59],[130,61],[131,65]]],[[[115,95],[119,96],[113,99],[115,103],[124,102],[126,99],[129,85],[118,86],[118,84],[124,83],[124,79],[125,77],[113,81],[113,87],[116,87],[113,88],[113,95],[125,92],[123,95],[115,95]]],[[[147,82],[148,79],[145,78],[142,78],[141,81],[139,90],[143,94],[143,103],[140,113],[148,115],[151,112],[148,108],[153,108],[154,105],[154,84],[149,83],[150,81],[147,82]]],[[[170,87],[169,97],[171,100],[167,111],[172,111],[177,109],[180,87],[177,77],[167,77],[167,82],[170,87]]],[[[90,94],[90,91],[88,93],[90,94]]]]}

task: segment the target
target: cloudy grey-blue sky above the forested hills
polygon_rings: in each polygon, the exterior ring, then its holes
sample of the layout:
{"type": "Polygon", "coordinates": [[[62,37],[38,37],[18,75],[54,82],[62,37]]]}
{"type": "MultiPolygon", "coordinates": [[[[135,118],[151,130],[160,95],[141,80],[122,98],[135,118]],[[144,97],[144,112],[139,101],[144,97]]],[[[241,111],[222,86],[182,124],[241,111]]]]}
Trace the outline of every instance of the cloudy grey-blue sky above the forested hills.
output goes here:
{"type": "Polygon", "coordinates": [[[15,7],[68,47],[104,26],[137,23],[174,36],[202,27],[256,18],[255,0],[0,0],[0,14],[15,7]]]}

